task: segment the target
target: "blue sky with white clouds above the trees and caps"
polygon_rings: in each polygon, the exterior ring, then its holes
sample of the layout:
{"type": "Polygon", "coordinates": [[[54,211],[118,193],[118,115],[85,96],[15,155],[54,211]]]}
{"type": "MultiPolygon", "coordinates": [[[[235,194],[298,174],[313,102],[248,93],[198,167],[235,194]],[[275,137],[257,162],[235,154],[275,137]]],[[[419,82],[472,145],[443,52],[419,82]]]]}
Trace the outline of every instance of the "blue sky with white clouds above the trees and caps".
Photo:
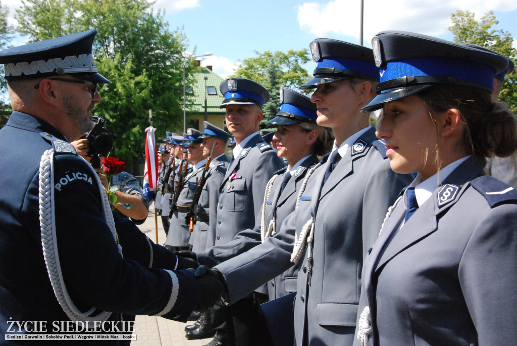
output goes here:
{"type": "MultiPolygon", "coordinates": [[[[10,8],[10,17],[19,3],[2,0],[10,8]]],[[[224,77],[239,60],[255,56],[254,51],[300,50],[320,37],[359,43],[360,0],[158,0],[154,8],[165,10],[171,29],[183,27],[190,52],[195,48],[197,55],[212,53],[203,65],[213,65],[224,77]]],[[[517,39],[515,0],[364,0],[363,45],[370,46],[371,38],[382,30],[452,39],[447,28],[451,13],[458,9],[475,12],[478,19],[493,10],[499,20],[496,29],[507,30],[517,39]]],[[[16,25],[12,19],[10,23],[16,25]]],[[[12,43],[24,42],[19,38],[12,43]]],[[[314,63],[306,68],[312,72],[314,63]]]]}

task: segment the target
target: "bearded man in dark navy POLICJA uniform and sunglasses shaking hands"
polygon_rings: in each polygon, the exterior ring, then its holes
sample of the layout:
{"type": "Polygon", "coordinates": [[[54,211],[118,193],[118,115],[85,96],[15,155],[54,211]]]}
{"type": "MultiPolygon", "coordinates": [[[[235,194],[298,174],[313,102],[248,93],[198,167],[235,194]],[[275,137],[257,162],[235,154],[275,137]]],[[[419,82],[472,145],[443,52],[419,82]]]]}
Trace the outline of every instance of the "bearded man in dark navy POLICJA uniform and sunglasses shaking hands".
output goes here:
{"type": "MultiPolygon", "coordinates": [[[[120,321],[121,312],[185,321],[196,305],[209,305],[222,293],[211,277],[144,268],[120,254],[115,224],[124,225],[113,219],[96,172],[68,142],[93,127],[90,111],[101,101],[97,86],[110,83],[94,65],[96,33],[0,52],[14,110],[0,129],[3,344],[17,343],[7,337],[8,321],[42,321],[47,328],[39,334],[52,332],[54,321],[120,321]],[[30,152],[12,145],[21,141],[30,152]]],[[[128,224],[135,235],[138,228],[128,224]]],[[[149,248],[145,236],[132,241],[149,248]]],[[[157,266],[181,265],[161,246],[154,249],[157,266]]]]}

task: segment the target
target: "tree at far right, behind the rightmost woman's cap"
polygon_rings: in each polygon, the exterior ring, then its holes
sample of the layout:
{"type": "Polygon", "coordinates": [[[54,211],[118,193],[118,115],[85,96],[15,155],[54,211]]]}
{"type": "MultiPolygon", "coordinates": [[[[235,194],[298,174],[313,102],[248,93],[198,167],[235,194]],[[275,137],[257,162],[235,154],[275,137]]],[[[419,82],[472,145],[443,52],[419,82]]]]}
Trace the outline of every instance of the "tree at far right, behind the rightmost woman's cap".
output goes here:
{"type": "MultiPolygon", "coordinates": [[[[478,22],[474,18],[475,13],[469,11],[456,11],[452,14],[453,25],[449,30],[454,34],[454,42],[474,43],[517,62],[517,50],[512,47],[513,38],[510,32],[492,29],[499,24],[494,12],[485,13],[478,22]]],[[[517,72],[513,71],[505,78],[501,88],[499,100],[510,105],[513,112],[517,112],[517,72]]]]}

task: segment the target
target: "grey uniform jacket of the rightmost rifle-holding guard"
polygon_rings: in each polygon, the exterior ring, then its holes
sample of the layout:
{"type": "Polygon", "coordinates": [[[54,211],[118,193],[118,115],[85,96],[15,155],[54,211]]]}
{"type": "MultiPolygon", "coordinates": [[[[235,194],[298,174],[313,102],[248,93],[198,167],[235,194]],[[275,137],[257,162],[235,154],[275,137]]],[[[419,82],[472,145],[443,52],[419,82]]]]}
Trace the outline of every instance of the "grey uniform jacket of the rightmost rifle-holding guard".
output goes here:
{"type": "MultiPolygon", "coordinates": [[[[229,161],[226,154],[222,154],[210,162],[210,169],[207,172],[208,177],[197,205],[197,211],[199,211],[201,216],[204,216],[205,221],[197,220],[194,225],[194,232],[190,237],[193,252],[205,250],[208,234],[211,234],[213,237],[216,233],[219,186],[221,186],[221,182],[226,174],[229,161]],[[208,220],[206,220],[206,217],[208,217],[208,220]]],[[[211,239],[210,243],[214,243],[214,239],[211,239]]]]}

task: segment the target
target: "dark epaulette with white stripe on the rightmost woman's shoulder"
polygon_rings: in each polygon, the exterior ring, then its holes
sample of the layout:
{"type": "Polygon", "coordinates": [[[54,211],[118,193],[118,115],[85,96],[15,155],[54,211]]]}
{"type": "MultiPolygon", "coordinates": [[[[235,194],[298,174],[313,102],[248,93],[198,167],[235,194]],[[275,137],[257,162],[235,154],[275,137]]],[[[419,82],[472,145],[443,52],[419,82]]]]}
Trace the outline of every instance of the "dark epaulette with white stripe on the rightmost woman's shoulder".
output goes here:
{"type": "Polygon", "coordinates": [[[491,208],[499,204],[517,203],[517,191],[492,176],[476,178],[470,185],[485,198],[491,208]]]}

